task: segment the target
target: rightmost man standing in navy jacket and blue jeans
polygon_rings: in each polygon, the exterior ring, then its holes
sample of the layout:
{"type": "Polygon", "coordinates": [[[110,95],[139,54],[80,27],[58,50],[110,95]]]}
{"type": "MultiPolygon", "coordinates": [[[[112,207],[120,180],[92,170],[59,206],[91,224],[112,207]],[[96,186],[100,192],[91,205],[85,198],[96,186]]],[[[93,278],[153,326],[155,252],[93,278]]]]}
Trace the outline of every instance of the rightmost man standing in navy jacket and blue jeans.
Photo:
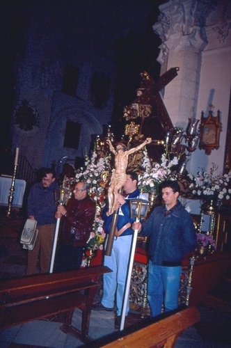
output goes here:
{"type": "Polygon", "coordinates": [[[180,186],[177,181],[161,184],[164,205],[156,207],[143,223],[132,228],[149,238],[148,301],[151,317],[178,307],[182,260],[196,248],[193,219],[177,199],[180,186]]]}

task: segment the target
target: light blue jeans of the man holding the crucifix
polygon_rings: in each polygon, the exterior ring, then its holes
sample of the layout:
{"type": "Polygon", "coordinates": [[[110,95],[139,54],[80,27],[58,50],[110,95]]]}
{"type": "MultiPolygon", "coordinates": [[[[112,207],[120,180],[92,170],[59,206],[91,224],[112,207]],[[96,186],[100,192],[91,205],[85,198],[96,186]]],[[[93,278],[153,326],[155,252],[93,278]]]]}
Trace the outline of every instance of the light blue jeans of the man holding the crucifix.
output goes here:
{"type": "MultiPolygon", "coordinates": [[[[104,266],[113,272],[104,274],[104,287],[102,305],[113,308],[116,300],[117,315],[121,315],[122,301],[125,292],[125,282],[129,262],[132,235],[118,237],[113,241],[111,256],[104,256],[104,266]]],[[[129,312],[129,301],[127,301],[126,313],[129,312]]]]}

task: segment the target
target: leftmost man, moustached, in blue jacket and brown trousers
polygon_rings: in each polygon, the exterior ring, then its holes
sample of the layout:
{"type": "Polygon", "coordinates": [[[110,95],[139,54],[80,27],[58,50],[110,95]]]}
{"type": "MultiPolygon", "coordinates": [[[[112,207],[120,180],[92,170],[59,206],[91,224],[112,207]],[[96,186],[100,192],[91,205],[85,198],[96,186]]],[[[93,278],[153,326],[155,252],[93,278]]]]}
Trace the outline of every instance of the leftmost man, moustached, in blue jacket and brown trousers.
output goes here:
{"type": "Polygon", "coordinates": [[[40,273],[49,272],[51,251],[54,239],[56,203],[54,189],[56,175],[51,168],[42,172],[42,181],[34,184],[28,197],[28,219],[37,221],[38,237],[33,250],[28,251],[26,275],[37,273],[38,258],[40,260],[40,273]]]}

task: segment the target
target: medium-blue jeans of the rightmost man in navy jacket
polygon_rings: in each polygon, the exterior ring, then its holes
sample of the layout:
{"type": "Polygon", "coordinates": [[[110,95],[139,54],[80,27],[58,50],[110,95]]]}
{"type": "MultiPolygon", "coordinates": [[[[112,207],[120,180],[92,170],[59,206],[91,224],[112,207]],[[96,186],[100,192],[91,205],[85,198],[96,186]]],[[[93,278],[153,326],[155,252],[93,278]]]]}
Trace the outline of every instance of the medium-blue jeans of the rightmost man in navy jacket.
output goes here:
{"type": "Polygon", "coordinates": [[[164,312],[169,312],[178,307],[180,290],[180,275],[182,267],[166,267],[152,264],[148,265],[148,302],[151,317],[161,314],[162,305],[164,312]]]}

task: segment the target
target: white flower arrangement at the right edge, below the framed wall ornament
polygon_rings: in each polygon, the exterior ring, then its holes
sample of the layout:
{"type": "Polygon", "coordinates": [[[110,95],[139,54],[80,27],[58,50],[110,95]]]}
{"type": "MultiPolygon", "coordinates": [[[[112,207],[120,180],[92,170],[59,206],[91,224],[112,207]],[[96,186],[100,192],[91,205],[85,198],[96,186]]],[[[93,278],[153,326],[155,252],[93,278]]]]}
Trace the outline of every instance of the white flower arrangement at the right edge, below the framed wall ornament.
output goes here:
{"type": "Polygon", "coordinates": [[[198,176],[194,177],[191,173],[188,174],[192,183],[189,188],[194,196],[204,200],[229,200],[231,189],[228,184],[231,179],[231,171],[228,174],[216,174],[218,167],[213,163],[210,172],[199,171],[198,176]]]}

